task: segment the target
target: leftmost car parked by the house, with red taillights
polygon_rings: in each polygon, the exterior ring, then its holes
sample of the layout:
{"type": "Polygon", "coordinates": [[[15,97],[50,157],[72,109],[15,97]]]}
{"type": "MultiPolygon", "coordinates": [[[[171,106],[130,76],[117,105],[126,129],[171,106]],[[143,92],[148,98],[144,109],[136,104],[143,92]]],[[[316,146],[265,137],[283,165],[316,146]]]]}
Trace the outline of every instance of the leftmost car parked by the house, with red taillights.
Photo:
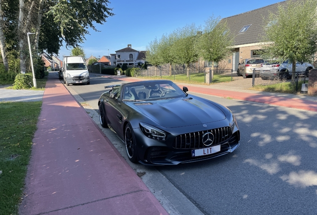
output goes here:
{"type": "Polygon", "coordinates": [[[260,68],[264,63],[262,58],[249,58],[243,59],[241,63],[238,64],[237,75],[247,78],[253,75],[253,69],[260,68]]]}

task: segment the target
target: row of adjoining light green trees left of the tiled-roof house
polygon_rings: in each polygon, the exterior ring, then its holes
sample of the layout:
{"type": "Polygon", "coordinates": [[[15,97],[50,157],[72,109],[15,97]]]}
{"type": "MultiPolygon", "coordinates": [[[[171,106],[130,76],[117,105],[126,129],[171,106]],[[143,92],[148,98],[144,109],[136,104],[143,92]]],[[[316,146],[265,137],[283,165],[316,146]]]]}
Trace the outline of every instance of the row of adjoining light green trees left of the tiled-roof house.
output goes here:
{"type": "MultiPolygon", "coordinates": [[[[231,54],[233,36],[226,22],[219,22],[220,17],[211,16],[203,31],[194,24],[178,28],[170,34],[164,34],[147,46],[147,61],[154,65],[186,64],[202,58],[206,61],[219,62],[231,54]]],[[[187,70],[188,76],[188,70],[187,70]]]]}

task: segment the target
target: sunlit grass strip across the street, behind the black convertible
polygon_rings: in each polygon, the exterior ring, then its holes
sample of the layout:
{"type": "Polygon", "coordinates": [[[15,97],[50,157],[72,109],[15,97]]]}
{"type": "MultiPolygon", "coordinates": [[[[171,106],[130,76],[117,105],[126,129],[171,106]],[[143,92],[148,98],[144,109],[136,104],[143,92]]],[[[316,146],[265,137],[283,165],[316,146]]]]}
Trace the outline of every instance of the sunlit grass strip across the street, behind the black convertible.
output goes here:
{"type": "MultiPolygon", "coordinates": [[[[205,76],[204,73],[194,73],[191,74],[190,77],[187,77],[186,74],[180,74],[175,76],[138,76],[138,78],[144,78],[144,79],[165,79],[165,80],[171,80],[174,82],[182,82],[182,83],[193,83],[193,84],[205,84],[205,76]]],[[[219,83],[219,82],[229,82],[231,81],[231,76],[225,76],[225,75],[217,75],[214,74],[212,83],[219,83]]]]}

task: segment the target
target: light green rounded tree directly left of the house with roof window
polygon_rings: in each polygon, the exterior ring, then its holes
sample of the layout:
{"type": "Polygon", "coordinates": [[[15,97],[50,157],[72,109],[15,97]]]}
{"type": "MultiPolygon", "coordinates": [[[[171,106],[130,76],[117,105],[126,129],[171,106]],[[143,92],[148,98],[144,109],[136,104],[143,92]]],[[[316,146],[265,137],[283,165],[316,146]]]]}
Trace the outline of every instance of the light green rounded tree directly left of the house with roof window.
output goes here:
{"type": "Polygon", "coordinates": [[[219,62],[231,54],[234,38],[226,22],[220,17],[210,16],[205,22],[202,34],[197,39],[198,55],[205,61],[219,62]]]}

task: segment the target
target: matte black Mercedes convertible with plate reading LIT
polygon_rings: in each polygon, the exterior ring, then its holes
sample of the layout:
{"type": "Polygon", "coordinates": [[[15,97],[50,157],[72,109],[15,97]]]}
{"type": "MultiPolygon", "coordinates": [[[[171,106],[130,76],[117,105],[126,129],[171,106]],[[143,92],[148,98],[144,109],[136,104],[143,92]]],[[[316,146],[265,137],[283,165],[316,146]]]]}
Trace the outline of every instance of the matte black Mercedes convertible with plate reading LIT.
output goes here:
{"type": "Polygon", "coordinates": [[[214,158],[239,146],[232,112],[187,94],[167,80],[110,88],[98,101],[99,119],[125,143],[132,162],[175,165],[214,158]]]}

